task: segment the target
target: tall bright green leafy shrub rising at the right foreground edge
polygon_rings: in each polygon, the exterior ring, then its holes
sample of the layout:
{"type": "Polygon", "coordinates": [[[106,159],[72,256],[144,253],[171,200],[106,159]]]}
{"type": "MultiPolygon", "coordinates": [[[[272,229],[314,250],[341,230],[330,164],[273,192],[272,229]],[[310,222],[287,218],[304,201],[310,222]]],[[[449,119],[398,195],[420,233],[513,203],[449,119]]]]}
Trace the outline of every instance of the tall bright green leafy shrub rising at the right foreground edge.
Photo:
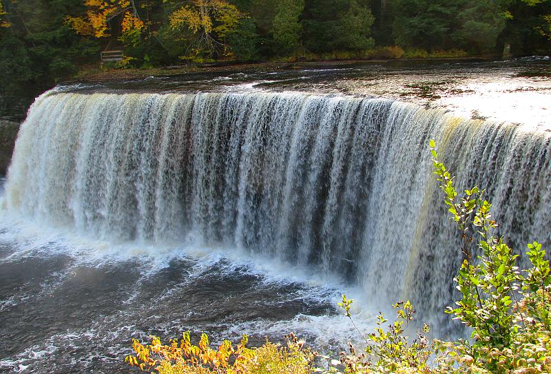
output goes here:
{"type": "Polygon", "coordinates": [[[459,365],[455,369],[457,373],[466,372],[462,366],[472,365],[480,372],[490,373],[548,372],[551,369],[551,276],[545,250],[537,242],[528,245],[532,267],[519,271],[518,256],[503,238],[492,234],[497,222],[492,220],[491,205],[483,197],[484,190],[473,187],[458,198],[453,177],[439,161],[434,141],[430,147],[450,219],[461,230],[464,243],[465,259],[455,278],[461,300],[456,302],[455,309],[449,308],[446,312],[472,329],[472,342],[459,342],[451,350],[448,344],[439,361],[441,366],[451,370],[459,365]],[[475,232],[476,237],[470,232],[475,232]],[[475,240],[477,248],[472,249],[475,240]],[[480,253],[476,258],[475,250],[480,253]],[[457,359],[459,355],[453,352],[462,353],[460,357],[464,359],[457,359]]]}

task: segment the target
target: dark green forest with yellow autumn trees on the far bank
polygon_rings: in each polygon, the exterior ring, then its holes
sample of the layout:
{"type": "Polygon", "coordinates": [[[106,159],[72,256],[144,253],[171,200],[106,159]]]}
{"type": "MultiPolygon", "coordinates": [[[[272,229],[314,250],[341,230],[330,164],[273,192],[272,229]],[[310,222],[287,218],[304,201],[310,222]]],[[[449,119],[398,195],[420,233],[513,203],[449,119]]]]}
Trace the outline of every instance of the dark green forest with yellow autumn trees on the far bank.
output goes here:
{"type": "Polygon", "coordinates": [[[87,68],[548,54],[549,0],[0,0],[0,116],[87,68]]]}

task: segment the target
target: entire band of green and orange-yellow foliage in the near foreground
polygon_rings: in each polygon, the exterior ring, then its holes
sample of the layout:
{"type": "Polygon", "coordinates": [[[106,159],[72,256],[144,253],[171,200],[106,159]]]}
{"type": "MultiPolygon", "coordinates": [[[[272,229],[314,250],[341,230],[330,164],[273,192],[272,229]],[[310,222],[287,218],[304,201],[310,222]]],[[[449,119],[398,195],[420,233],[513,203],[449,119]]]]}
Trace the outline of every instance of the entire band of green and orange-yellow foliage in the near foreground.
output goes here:
{"type": "MultiPolygon", "coordinates": [[[[358,330],[366,348],[358,351],[349,343],[349,352],[340,353],[339,360],[311,351],[293,334],[285,346],[267,341],[249,349],[244,336],[235,348],[225,341],[211,349],[207,335],[202,334],[194,346],[185,333],[180,342],[173,340],[169,345],[161,344],[158,337],[145,345],[134,340],[135,355],[125,361],[158,374],[550,373],[551,269],[545,250],[538,242],[529,244],[531,267],[519,269],[518,256],[493,235],[497,222],[484,190],[457,191],[454,178],[439,161],[434,141],[430,148],[450,220],[461,233],[464,257],[455,278],[461,299],[446,313],[468,326],[470,340],[430,342],[426,325],[415,336],[406,335],[405,326],[415,311],[410,302],[398,302],[393,306],[394,322],[389,324],[380,313],[375,332],[358,330]],[[316,357],[330,360],[329,366],[316,367],[316,357]]],[[[343,295],[339,305],[354,323],[352,302],[343,295]]]]}

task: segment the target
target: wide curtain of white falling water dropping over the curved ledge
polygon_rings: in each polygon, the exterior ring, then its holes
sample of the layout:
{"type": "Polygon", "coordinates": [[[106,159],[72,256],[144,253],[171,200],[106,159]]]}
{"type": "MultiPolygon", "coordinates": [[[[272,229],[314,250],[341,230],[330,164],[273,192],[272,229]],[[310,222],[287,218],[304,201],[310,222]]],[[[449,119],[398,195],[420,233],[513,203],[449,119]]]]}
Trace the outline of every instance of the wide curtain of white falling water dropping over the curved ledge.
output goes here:
{"type": "Polygon", "coordinates": [[[517,251],[551,244],[551,132],[382,98],[44,94],[6,205],[102,240],[224,245],[337,273],[445,324],[461,253],[428,152],[517,251]]]}

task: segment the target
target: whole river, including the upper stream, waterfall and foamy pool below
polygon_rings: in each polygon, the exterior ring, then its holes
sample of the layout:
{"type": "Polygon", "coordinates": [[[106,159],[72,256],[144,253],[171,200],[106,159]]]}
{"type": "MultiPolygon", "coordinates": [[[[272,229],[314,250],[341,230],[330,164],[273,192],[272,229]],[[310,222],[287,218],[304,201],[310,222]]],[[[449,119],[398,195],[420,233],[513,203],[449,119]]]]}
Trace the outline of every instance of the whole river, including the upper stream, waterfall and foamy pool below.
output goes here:
{"type": "Polygon", "coordinates": [[[125,373],[183,331],[322,351],[410,298],[436,335],[461,262],[428,141],[517,249],[551,244],[551,62],[346,64],[59,85],[0,213],[0,371],[125,373]]]}

